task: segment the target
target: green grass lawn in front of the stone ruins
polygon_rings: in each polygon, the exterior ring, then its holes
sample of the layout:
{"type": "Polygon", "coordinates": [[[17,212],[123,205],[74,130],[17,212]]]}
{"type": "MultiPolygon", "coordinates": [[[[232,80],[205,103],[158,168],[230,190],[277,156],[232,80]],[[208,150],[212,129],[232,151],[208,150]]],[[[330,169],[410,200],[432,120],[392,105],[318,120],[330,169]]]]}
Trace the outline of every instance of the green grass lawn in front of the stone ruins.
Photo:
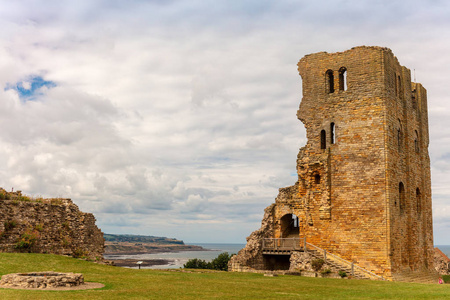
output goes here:
{"type": "Polygon", "coordinates": [[[102,289],[0,289],[0,299],[450,299],[450,284],[264,277],[262,274],[135,270],[49,254],[0,253],[0,275],[31,271],[83,273],[102,289]]]}

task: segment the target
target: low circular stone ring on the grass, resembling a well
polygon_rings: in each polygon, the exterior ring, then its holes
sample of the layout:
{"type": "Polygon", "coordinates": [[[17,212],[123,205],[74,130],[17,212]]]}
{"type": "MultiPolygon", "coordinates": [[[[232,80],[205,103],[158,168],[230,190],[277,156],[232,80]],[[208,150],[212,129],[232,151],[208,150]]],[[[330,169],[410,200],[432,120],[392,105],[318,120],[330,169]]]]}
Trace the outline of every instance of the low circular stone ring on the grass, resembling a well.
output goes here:
{"type": "Polygon", "coordinates": [[[80,273],[14,273],[3,275],[0,280],[2,287],[14,288],[47,288],[47,287],[74,287],[84,283],[80,273]]]}

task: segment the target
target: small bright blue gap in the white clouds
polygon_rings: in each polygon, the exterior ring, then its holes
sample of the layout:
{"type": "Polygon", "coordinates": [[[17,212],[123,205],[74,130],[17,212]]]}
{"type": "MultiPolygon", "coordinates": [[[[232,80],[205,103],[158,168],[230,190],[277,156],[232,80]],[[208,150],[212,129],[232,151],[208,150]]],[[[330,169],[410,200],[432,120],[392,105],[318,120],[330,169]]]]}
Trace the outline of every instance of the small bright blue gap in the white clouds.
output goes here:
{"type": "Polygon", "coordinates": [[[16,90],[20,99],[25,101],[33,101],[36,97],[43,95],[42,88],[48,89],[56,86],[53,81],[44,80],[41,76],[32,75],[23,81],[17,82],[15,85],[8,84],[6,90],[16,90]]]}

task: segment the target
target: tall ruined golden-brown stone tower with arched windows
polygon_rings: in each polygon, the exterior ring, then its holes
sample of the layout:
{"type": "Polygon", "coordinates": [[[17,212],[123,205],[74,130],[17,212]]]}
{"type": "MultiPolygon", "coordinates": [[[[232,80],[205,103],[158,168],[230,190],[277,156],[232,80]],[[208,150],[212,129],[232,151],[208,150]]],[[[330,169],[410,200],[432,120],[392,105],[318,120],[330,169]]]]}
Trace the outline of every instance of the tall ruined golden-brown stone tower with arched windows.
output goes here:
{"type": "Polygon", "coordinates": [[[390,280],[432,276],[426,90],[382,47],[306,55],[298,70],[308,139],[298,181],[280,189],[232,269],[289,269],[308,242],[390,280]]]}

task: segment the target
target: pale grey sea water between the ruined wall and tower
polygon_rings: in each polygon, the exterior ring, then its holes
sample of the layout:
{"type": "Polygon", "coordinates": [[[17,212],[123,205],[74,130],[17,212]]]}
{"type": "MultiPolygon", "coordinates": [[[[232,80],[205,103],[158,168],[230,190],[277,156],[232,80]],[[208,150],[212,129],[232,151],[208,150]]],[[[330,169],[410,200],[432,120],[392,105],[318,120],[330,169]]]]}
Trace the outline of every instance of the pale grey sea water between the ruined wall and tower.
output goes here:
{"type": "MultiPolygon", "coordinates": [[[[149,269],[178,269],[182,268],[183,265],[192,258],[203,259],[206,261],[211,261],[216,258],[220,253],[228,252],[238,253],[239,250],[245,247],[245,244],[190,244],[202,246],[207,251],[181,251],[181,252],[167,252],[167,253],[155,253],[155,254],[135,254],[135,255],[105,255],[106,259],[170,259],[173,263],[169,265],[159,265],[148,267],[149,269]]],[[[137,267],[136,267],[137,268],[137,267]]]]}

